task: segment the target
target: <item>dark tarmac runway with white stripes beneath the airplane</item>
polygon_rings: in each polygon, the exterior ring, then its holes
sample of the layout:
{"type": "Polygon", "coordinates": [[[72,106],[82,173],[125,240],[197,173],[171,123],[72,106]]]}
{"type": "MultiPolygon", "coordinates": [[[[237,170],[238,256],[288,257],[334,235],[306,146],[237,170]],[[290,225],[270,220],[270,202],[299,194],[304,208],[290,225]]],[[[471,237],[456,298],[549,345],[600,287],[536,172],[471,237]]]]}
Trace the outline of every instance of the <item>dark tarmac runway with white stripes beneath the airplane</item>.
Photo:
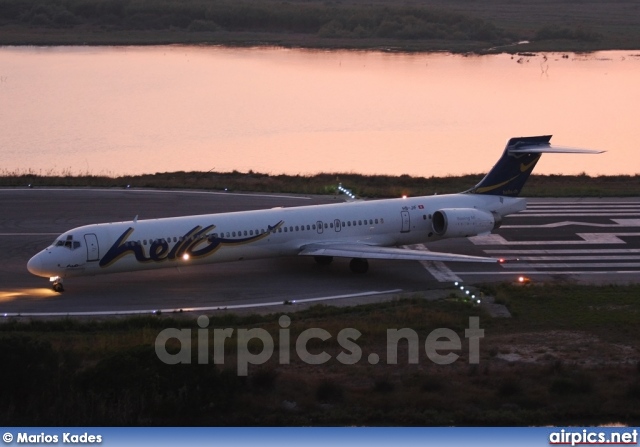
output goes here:
{"type": "Polygon", "coordinates": [[[57,294],[31,275],[28,259],[60,233],[112,221],[335,203],[331,196],[133,189],[0,189],[0,316],[127,314],[214,310],[433,291],[455,280],[629,283],[640,278],[640,198],[531,199],[494,234],[414,247],[518,258],[503,265],[370,261],[365,275],[348,260],[242,261],[73,278],[57,294]]]}

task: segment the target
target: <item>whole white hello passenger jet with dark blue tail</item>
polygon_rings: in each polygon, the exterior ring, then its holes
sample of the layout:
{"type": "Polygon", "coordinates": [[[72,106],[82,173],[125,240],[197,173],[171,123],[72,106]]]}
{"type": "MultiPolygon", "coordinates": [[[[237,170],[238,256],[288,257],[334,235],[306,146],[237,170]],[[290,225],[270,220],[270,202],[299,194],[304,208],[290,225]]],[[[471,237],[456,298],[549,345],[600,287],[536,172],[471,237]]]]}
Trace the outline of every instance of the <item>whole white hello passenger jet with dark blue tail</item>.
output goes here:
{"type": "Polygon", "coordinates": [[[349,201],[163,219],[86,225],[60,235],[27,263],[64,291],[66,278],[280,256],[319,264],[351,258],[490,262],[503,260],[400,248],[445,238],[489,234],[526,208],[517,197],[543,153],[601,153],[552,146],[551,135],[508,140],[502,156],[474,187],[458,194],[349,201]]]}

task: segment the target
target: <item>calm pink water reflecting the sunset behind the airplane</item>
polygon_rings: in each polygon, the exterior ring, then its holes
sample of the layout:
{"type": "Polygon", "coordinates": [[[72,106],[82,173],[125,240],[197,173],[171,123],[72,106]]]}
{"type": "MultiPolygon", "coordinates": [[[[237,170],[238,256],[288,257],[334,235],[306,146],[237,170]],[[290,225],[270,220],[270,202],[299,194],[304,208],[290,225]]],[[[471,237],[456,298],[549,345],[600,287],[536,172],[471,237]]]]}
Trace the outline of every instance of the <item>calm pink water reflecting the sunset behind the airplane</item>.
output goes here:
{"type": "Polygon", "coordinates": [[[463,57],[216,47],[0,48],[0,171],[485,172],[511,136],[640,173],[640,51],[463,57]]]}

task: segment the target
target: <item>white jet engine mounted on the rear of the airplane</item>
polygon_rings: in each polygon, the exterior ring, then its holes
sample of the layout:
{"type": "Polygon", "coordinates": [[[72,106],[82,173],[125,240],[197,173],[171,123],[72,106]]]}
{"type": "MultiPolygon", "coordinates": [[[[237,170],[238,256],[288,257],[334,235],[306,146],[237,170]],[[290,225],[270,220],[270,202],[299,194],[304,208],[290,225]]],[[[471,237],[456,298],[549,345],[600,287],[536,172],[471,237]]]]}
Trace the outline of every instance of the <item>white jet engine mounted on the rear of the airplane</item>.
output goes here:
{"type": "Polygon", "coordinates": [[[433,213],[431,226],[440,237],[469,237],[500,226],[500,218],[488,211],[475,208],[445,208],[433,213]]]}

